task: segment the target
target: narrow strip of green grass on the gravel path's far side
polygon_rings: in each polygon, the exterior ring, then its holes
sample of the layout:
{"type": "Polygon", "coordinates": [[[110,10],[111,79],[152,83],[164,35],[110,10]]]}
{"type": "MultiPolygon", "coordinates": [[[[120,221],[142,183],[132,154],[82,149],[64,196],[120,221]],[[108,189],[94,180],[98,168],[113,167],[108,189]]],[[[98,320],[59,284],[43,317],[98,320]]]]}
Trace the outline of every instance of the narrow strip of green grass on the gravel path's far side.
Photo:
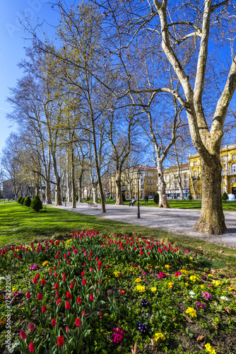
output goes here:
{"type": "MultiPolygon", "coordinates": [[[[90,200],[92,202],[92,200],[90,200]]],[[[99,200],[100,202],[100,200],[99,200]]],[[[170,207],[177,208],[177,209],[201,209],[201,200],[168,200],[170,207]]],[[[225,212],[236,212],[236,201],[232,202],[225,202],[223,201],[223,210],[225,212]]],[[[106,204],[115,204],[114,200],[106,199],[106,204]]],[[[129,202],[124,202],[124,205],[129,205],[129,202]]],[[[148,200],[148,204],[145,200],[140,200],[139,205],[147,206],[147,207],[158,207],[158,204],[152,199],[148,200]]]]}

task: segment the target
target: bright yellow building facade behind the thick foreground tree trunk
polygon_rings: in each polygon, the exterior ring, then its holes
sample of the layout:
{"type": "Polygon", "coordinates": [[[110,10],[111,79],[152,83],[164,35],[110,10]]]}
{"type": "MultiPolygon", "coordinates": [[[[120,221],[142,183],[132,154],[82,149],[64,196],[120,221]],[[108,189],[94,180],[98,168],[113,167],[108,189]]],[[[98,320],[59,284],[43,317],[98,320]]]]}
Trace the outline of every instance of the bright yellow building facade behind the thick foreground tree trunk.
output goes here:
{"type": "MultiPolygon", "coordinates": [[[[234,194],[236,199],[236,144],[221,147],[220,161],[222,165],[221,192],[234,194]]],[[[201,198],[201,157],[199,154],[189,155],[190,194],[201,198]]]]}

